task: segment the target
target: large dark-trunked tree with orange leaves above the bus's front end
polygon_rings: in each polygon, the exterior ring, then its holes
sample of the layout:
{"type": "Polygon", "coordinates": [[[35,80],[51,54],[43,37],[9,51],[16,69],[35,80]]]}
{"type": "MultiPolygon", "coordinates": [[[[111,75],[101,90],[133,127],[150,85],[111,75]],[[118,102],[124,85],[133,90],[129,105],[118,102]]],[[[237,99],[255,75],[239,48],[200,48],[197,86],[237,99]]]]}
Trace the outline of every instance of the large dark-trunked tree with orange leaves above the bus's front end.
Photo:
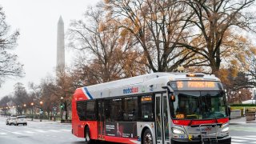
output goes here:
{"type": "Polygon", "coordinates": [[[210,66],[212,74],[218,74],[226,51],[235,54],[237,50],[244,51],[239,42],[241,30],[254,31],[252,28],[255,18],[252,10],[254,0],[188,0],[187,6],[194,10],[194,16],[187,19],[193,33],[189,34],[190,41],[178,43],[198,54],[204,59],[201,66],[210,66]],[[236,32],[240,30],[239,32],[236,32]],[[234,47],[237,50],[234,50],[234,47]],[[231,49],[231,50],[230,50],[231,49]],[[234,50],[232,52],[232,49],[234,50]]]}

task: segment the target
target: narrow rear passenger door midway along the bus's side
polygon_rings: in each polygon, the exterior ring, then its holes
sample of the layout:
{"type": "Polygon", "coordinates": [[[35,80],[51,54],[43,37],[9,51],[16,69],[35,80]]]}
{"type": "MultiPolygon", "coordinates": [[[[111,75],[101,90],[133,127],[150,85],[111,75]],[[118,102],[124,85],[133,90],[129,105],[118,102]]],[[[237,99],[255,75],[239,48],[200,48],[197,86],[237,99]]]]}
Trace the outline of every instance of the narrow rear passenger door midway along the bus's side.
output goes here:
{"type": "Polygon", "coordinates": [[[103,121],[103,115],[102,115],[102,100],[98,100],[98,106],[97,106],[97,110],[98,110],[98,139],[100,140],[104,140],[104,135],[103,134],[103,126],[104,126],[104,121],[103,121]]]}

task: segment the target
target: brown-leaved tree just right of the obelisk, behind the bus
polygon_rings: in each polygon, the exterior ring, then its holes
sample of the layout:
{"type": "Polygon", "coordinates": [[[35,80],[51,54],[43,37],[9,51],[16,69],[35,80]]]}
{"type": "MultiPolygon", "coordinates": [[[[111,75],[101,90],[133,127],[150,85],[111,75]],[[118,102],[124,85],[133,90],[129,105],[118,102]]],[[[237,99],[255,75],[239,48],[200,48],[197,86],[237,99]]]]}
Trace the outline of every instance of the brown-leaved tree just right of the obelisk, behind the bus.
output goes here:
{"type": "MultiPolygon", "coordinates": [[[[84,78],[88,79],[87,84],[129,77],[126,75],[127,70],[123,69],[125,66],[122,58],[126,53],[139,55],[139,51],[136,50],[137,47],[133,47],[134,42],[130,37],[122,38],[120,33],[116,23],[104,12],[101,5],[90,7],[84,21],[74,21],[71,24],[70,47],[84,54],[79,55],[78,62],[74,63],[80,69],[75,72],[80,71],[80,75],[87,75],[90,78],[84,78]]],[[[134,58],[134,61],[125,64],[138,66],[141,62],[141,58],[134,58]]],[[[134,74],[143,73],[142,70],[133,70],[134,74]]]]}

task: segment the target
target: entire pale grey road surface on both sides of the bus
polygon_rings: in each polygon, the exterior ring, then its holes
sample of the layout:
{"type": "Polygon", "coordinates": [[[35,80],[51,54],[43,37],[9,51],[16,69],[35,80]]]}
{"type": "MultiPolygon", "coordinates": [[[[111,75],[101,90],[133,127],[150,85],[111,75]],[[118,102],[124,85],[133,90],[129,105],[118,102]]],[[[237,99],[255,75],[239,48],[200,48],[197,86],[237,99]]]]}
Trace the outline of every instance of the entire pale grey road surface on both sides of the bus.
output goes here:
{"type": "MultiPolygon", "coordinates": [[[[6,126],[6,118],[0,116],[0,143],[86,143],[83,138],[76,138],[73,134],[71,134],[70,124],[61,124],[59,122],[27,122],[27,126],[6,126]]],[[[232,137],[232,144],[256,144],[256,123],[230,125],[230,135],[232,137]]]]}

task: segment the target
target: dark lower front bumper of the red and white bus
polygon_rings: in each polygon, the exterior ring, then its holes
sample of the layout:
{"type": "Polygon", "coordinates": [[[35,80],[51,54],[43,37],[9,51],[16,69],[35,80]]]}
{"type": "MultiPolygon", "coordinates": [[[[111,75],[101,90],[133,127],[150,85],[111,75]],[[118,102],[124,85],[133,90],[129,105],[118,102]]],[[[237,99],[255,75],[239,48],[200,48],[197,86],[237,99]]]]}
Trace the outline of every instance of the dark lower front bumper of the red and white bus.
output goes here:
{"type": "MultiPolygon", "coordinates": [[[[224,138],[218,138],[218,142],[216,143],[222,143],[222,144],[230,144],[231,143],[231,137],[227,136],[224,138]]],[[[206,139],[203,141],[204,143],[210,143],[210,141],[207,141],[206,139]]],[[[172,138],[171,144],[186,144],[186,143],[192,143],[192,144],[201,144],[201,139],[195,139],[195,140],[189,140],[189,139],[181,139],[181,138],[172,138]]],[[[212,142],[211,142],[212,143],[212,142]]],[[[215,143],[215,142],[214,142],[215,143]]]]}

